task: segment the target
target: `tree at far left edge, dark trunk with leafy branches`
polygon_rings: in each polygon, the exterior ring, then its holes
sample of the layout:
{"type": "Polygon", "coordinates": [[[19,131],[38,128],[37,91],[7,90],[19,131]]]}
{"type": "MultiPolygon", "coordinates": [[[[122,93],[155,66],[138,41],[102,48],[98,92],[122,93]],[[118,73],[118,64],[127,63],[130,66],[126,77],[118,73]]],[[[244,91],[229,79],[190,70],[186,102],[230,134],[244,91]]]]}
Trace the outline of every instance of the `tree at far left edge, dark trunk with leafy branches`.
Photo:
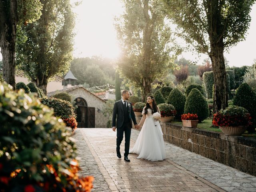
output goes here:
{"type": "Polygon", "coordinates": [[[21,26],[40,17],[40,0],[0,0],[0,48],[3,78],[15,89],[15,45],[26,40],[21,26]]]}

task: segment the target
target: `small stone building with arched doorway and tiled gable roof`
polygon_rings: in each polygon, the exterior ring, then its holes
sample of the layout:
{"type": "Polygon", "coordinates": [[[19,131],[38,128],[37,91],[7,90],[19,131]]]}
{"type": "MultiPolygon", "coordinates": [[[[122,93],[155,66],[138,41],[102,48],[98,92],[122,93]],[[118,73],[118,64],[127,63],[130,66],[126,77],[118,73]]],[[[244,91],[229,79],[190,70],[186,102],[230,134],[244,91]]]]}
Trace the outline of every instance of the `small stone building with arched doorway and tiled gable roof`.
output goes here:
{"type": "Polygon", "coordinates": [[[82,86],[74,86],[63,90],[49,92],[47,95],[52,96],[56,93],[67,92],[72,96],[78,108],[76,108],[78,127],[82,128],[106,128],[108,117],[102,113],[105,100],[94,95],[92,92],[82,86]]]}

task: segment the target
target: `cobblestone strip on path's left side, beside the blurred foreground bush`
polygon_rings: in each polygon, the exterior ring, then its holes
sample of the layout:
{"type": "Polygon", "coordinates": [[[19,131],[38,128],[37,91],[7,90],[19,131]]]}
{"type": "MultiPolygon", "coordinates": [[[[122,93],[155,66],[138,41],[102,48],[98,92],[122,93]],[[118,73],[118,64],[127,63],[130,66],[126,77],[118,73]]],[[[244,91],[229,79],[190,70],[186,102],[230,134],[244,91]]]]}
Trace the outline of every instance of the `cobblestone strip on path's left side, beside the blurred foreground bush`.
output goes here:
{"type": "Polygon", "coordinates": [[[92,175],[94,176],[94,188],[92,189],[92,192],[98,192],[98,191],[106,191],[110,192],[108,188],[108,184],[106,183],[102,173],[100,172],[100,169],[98,168],[98,164],[96,163],[94,157],[92,156],[92,153],[90,152],[90,148],[86,144],[86,141],[84,140],[84,137],[82,135],[82,130],[77,129],[75,131],[75,134],[73,136],[74,139],[77,140],[76,146],[78,148],[78,158],[79,165],[81,167],[80,174],[82,176],[88,176],[92,175]]]}

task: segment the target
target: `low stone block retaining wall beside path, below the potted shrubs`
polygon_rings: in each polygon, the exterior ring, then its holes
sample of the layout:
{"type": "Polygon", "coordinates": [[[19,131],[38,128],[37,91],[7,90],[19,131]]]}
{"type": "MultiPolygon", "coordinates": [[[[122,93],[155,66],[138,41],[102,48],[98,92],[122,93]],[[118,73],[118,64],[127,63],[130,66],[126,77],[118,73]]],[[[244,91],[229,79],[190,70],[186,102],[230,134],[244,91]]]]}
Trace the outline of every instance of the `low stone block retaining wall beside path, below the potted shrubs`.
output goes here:
{"type": "Polygon", "coordinates": [[[256,176],[255,138],[226,136],[172,123],[160,124],[165,141],[256,176]]]}

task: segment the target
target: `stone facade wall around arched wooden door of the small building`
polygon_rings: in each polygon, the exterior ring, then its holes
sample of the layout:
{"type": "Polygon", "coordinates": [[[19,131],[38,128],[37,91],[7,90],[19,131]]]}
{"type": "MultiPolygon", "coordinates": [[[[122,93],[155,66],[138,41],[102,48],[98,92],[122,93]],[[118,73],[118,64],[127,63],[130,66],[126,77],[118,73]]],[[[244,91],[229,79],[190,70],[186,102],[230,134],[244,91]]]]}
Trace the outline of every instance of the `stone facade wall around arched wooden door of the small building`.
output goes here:
{"type": "Polygon", "coordinates": [[[72,100],[75,98],[81,97],[84,98],[88,104],[88,107],[95,108],[95,127],[96,128],[106,128],[106,124],[108,122],[108,117],[105,117],[102,113],[105,102],[100,98],[97,98],[90,92],[87,92],[83,88],[77,88],[74,90],[68,91],[72,96],[72,100]],[[98,110],[99,109],[99,110],[98,110]]]}

